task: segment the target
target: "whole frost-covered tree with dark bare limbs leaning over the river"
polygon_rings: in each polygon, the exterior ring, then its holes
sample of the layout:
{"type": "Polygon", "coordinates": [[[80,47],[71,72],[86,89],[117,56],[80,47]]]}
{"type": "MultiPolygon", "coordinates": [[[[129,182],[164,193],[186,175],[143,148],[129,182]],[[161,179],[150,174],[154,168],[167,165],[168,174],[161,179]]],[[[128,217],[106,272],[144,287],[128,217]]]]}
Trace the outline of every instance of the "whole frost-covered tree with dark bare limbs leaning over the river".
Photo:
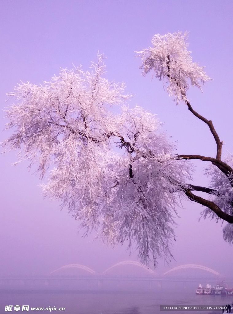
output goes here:
{"type": "Polygon", "coordinates": [[[233,195],[231,159],[221,160],[222,142],[212,121],[193,110],[186,92],[208,81],[203,68],[192,62],[182,33],[155,35],[153,47],[139,52],[143,74],[154,70],[169,95],[205,122],[217,143],[216,158],[177,155],[175,145],[152,113],[129,108],[125,85],[104,78],[103,56],[90,71],[64,69],[42,85],[15,87],[16,104],[8,107],[3,143],[19,149],[19,161],[37,165],[45,195],[57,198],[81,226],[98,230],[111,243],[136,243],[143,263],[171,257],[174,218],[182,199],[206,209],[203,215],[223,219],[224,238],[232,243],[233,195]],[[118,110],[116,110],[116,107],[118,110]],[[189,184],[192,167],[187,160],[209,161],[210,187],[189,184]],[[194,191],[205,192],[202,198],[194,191]]]}

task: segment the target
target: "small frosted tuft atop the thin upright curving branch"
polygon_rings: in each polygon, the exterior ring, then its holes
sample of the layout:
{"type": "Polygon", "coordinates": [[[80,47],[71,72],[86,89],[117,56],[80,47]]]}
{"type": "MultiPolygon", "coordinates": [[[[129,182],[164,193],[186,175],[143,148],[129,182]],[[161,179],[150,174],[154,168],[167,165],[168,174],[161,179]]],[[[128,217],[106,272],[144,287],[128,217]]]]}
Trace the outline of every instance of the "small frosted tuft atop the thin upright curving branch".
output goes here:
{"type": "Polygon", "coordinates": [[[153,47],[137,51],[142,59],[143,76],[153,70],[155,77],[168,85],[167,91],[170,96],[175,96],[177,104],[186,100],[190,84],[201,89],[201,84],[210,80],[203,67],[192,62],[187,37],[187,32],[184,35],[181,32],[157,34],[151,41],[153,47]]]}

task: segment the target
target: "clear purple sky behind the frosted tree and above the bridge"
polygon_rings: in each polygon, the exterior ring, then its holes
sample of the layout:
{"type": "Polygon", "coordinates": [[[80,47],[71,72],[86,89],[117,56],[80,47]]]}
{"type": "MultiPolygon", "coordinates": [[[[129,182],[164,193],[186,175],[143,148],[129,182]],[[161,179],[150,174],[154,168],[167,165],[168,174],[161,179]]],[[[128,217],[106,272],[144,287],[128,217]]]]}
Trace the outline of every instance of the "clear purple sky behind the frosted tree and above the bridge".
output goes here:
{"type": "MultiPolygon", "coordinates": [[[[233,151],[232,1],[2,0],[0,6],[2,108],[5,94],[20,79],[39,84],[72,63],[87,69],[99,51],[107,57],[108,79],[126,82],[127,91],[135,94],[132,106],[138,103],[158,114],[164,130],[178,140],[180,154],[214,156],[216,147],[207,126],[183,104],[175,106],[161,82],[151,81],[150,75],[143,78],[140,59],[134,57],[134,51],[150,45],[154,34],[187,30],[193,60],[206,66],[214,79],[203,88],[204,94],[192,89],[188,97],[195,110],[213,120],[225,143],[224,153],[233,151]]],[[[3,124],[1,119],[1,129],[3,124]]],[[[0,140],[5,137],[0,134],[0,140]]],[[[60,211],[58,203],[43,198],[41,182],[28,172],[26,162],[9,165],[16,161],[15,152],[1,154],[0,159],[0,275],[47,274],[70,263],[102,271],[121,260],[136,259],[125,247],[106,248],[101,241],[93,242],[93,236],[83,239],[82,231],[77,235],[78,223],[60,211]]],[[[202,172],[196,178],[202,185],[202,172]]],[[[197,222],[201,210],[187,202],[179,211],[176,261],[170,266],[196,263],[228,274],[233,248],[222,239],[220,224],[197,222]]],[[[158,272],[163,268],[161,261],[158,272]]]]}

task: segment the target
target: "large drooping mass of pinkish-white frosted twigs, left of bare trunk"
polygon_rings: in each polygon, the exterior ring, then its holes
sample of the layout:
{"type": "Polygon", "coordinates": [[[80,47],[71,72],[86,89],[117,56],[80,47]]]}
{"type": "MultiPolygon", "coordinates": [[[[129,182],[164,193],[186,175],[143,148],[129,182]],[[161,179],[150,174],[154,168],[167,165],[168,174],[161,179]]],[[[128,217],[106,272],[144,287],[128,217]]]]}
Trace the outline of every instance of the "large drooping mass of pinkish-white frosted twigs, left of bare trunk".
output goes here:
{"type": "Polygon", "coordinates": [[[54,166],[45,194],[87,231],[101,227],[105,239],[129,248],[135,242],[144,263],[170,259],[189,167],[171,156],[175,147],[153,114],[126,106],[125,85],[103,78],[104,68],[99,56],[92,72],[65,69],[43,85],[15,87],[5,145],[21,149],[19,160],[36,163],[42,177],[54,166]]]}

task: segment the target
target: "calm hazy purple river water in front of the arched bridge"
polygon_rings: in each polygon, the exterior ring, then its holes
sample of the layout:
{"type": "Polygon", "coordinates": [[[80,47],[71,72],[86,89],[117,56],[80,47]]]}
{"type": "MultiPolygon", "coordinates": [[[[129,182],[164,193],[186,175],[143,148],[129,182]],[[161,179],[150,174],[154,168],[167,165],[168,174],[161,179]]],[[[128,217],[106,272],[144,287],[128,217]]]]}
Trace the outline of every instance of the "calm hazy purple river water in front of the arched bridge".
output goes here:
{"type": "MultiPolygon", "coordinates": [[[[160,305],[226,305],[232,304],[233,296],[195,295],[194,291],[67,291],[4,292],[0,294],[0,313],[8,313],[5,306],[12,305],[12,313],[21,313],[23,305],[29,311],[23,313],[64,314],[157,314],[200,313],[200,311],[160,311],[160,305]],[[19,305],[20,311],[14,311],[19,305]],[[64,307],[64,311],[32,311],[31,307],[64,307]]],[[[218,314],[222,311],[202,311],[218,314]]]]}

